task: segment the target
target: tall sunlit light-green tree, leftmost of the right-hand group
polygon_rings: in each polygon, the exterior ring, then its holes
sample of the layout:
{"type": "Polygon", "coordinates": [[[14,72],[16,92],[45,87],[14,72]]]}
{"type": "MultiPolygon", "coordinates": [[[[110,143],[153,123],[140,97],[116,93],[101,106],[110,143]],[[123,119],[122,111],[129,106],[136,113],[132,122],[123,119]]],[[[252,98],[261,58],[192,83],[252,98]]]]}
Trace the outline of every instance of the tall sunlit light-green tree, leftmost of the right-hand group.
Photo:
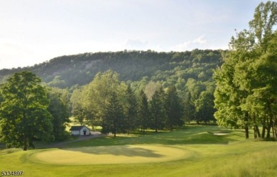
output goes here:
{"type": "MultiPolygon", "coordinates": [[[[245,137],[249,138],[249,111],[241,105],[251,92],[249,89],[250,74],[246,68],[247,59],[254,55],[252,52],[252,35],[246,30],[232,38],[230,50],[223,55],[224,64],[214,72],[217,87],[214,92],[214,103],[217,112],[214,114],[217,123],[221,126],[242,127],[245,137]],[[245,39],[245,40],[244,40],[245,39]]],[[[247,60],[249,62],[249,60],[247,60]]]]}

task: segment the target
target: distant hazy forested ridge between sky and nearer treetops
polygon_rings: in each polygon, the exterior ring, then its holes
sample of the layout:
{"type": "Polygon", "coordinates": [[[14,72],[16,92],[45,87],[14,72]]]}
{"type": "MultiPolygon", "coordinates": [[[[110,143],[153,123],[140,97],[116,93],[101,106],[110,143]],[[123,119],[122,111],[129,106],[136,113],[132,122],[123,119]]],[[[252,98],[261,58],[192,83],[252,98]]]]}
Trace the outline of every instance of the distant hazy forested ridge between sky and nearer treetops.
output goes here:
{"type": "MultiPolygon", "coordinates": [[[[32,67],[1,69],[0,81],[11,74],[28,70],[49,86],[61,89],[88,84],[98,72],[112,69],[121,81],[161,81],[162,84],[185,85],[188,79],[211,81],[212,69],[221,65],[218,50],[191,52],[121,51],[69,55],[50,59],[32,67]]],[[[179,86],[180,88],[180,86],[179,86]]]]}

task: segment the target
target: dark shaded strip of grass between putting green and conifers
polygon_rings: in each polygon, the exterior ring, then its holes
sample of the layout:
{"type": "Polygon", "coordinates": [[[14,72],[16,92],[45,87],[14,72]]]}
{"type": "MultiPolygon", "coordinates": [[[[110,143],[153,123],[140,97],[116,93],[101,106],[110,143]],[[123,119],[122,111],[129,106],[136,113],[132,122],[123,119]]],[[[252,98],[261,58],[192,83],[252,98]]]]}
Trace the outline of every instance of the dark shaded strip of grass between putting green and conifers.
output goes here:
{"type": "Polygon", "coordinates": [[[161,132],[147,132],[146,135],[131,135],[130,137],[101,137],[97,139],[88,139],[82,142],[73,142],[67,144],[68,147],[91,147],[91,146],[112,146],[126,144],[228,144],[229,142],[237,141],[237,137],[241,132],[234,130],[220,129],[217,126],[209,125],[187,125],[183,129],[161,132]],[[215,133],[224,135],[218,136],[215,133]],[[230,136],[231,135],[231,136],[230,136]]]}

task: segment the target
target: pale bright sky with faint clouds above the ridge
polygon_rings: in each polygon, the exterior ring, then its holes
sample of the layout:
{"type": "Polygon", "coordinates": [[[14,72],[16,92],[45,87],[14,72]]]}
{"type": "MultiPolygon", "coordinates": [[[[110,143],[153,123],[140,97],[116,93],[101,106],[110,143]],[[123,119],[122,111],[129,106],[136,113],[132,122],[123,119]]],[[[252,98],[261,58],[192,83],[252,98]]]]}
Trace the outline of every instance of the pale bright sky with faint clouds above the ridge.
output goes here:
{"type": "MultiPolygon", "coordinates": [[[[264,1],[265,2],[265,1],[264,1]]],[[[261,0],[0,0],[0,69],[63,55],[228,49],[261,0]]]]}

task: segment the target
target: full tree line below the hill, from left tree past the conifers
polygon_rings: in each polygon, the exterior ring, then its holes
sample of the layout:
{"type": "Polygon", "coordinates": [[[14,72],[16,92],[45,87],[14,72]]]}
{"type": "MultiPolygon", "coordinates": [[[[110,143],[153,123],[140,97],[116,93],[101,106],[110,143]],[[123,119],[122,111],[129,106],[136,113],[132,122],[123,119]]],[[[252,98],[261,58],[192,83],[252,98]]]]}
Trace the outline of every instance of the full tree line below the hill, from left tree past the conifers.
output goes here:
{"type": "Polygon", "coordinates": [[[213,107],[212,102],[205,104],[214,91],[209,83],[188,79],[182,84],[188,87],[184,94],[178,84],[164,87],[147,77],[130,83],[108,70],[71,93],[48,86],[32,72],[18,72],[0,85],[0,140],[6,147],[24,150],[34,147],[35,140],[63,140],[72,115],[81,125],[99,125],[102,132],[114,135],[137,129],[144,133],[148,128],[172,130],[187,120],[207,122],[214,119],[213,113],[203,112],[213,107]]]}

